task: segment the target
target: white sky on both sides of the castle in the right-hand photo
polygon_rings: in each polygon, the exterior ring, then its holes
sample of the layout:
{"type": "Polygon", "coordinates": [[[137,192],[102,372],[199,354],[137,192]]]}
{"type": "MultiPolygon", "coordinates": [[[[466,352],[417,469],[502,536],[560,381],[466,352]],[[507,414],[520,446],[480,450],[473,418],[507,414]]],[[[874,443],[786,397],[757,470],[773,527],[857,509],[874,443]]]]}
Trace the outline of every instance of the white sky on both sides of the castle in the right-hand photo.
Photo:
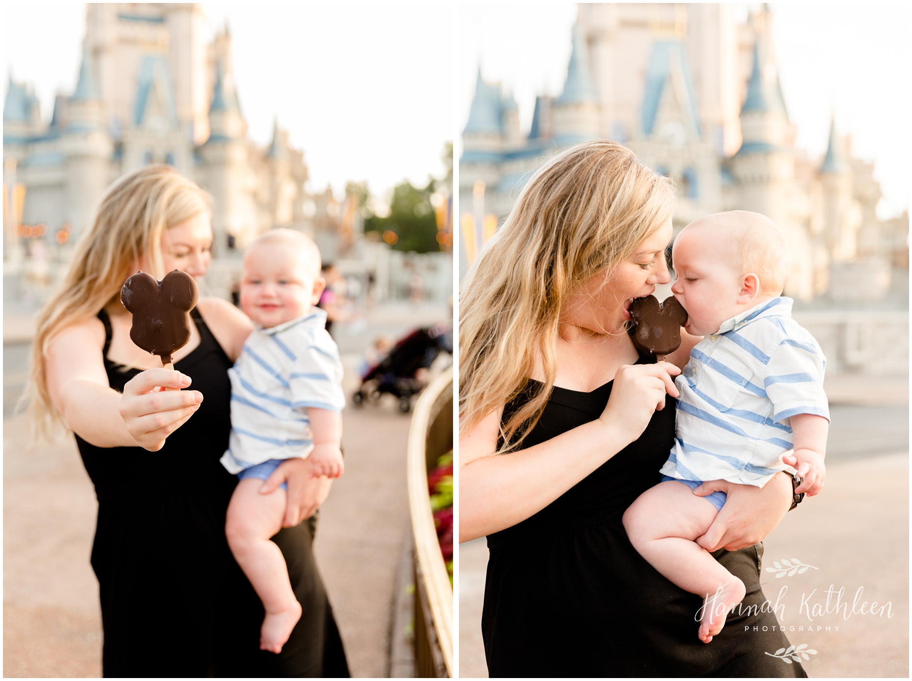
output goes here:
{"type": "MultiPolygon", "coordinates": [[[[747,16],[750,7],[741,5],[747,16]]],[[[881,218],[908,209],[909,6],[907,3],[773,3],[775,49],[795,144],[823,156],[835,114],[857,158],[875,161],[881,218]]],[[[523,129],[536,94],[559,95],[576,5],[465,4],[460,8],[459,112],[465,126],[479,62],[482,76],[512,90],[523,129]]]]}

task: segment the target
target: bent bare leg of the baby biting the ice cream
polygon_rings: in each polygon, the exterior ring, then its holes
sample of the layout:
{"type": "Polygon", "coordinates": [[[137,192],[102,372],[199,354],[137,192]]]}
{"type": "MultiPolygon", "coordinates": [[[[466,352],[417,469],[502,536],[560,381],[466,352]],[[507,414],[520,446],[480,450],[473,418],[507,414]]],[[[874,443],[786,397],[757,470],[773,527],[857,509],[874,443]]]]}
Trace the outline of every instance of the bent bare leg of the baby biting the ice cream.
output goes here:
{"type": "Polygon", "coordinates": [[[731,606],[744,598],[744,583],[694,541],[717,512],[687,485],[667,480],[641,494],[624,513],[637,552],[669,582],[704,598],[698,633],[703,643],[719,634],[731,606]]]}

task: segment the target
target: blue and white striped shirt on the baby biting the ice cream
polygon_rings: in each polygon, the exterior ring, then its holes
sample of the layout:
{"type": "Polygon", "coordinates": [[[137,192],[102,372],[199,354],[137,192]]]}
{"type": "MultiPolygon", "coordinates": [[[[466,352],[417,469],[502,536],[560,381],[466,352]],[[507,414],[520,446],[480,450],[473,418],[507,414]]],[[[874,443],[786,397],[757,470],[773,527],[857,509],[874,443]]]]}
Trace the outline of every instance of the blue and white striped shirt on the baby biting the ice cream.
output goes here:
{"type": "Polygon", "coordinates": [[[829,420],[826,358],[792,319],[792,299],[773,298],[733,317],[690,351],[680,391],[675,446],[661,472],[679,480],[762,487],[790,469],[789,417],[829,420]]]}

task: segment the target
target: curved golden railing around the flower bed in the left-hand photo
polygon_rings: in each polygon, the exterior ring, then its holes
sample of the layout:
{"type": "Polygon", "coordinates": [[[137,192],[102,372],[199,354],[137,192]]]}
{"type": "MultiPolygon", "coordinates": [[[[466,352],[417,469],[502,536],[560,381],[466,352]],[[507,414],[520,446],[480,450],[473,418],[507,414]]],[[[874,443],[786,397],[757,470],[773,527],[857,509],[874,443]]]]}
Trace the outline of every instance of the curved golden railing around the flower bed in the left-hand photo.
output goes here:
{"type": "Polygon", "coordinates": [[[453,446],[452,368],[424,389],[411,418],[408,445],[409,510],[415,541],[415,674],[452,676],[453,591],[434,517],[428,470],[453,446]]]}

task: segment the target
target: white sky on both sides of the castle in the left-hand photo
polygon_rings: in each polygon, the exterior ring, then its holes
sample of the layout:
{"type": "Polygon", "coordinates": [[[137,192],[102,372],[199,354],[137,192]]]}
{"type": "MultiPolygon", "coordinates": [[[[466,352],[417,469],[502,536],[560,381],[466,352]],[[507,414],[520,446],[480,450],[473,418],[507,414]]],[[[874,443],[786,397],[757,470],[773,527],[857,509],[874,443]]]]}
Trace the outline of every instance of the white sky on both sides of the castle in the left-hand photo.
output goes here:
{"type": "MultiPolygon", "coordinates": [[[[311,191],[368,181],[384,194],[403,179],[440,177],[456,129],[454,8],[443,3],[203,4],[209,36],[227,19],[249,135],[273,119],[304,150],[311,191]]],[[[76,87],[81,3],[4,3],[3,58],[33,84],[49,120],[54,95],[76,87]]],[[[4,93],[6,83],[4,83],[4,93]]]]}

